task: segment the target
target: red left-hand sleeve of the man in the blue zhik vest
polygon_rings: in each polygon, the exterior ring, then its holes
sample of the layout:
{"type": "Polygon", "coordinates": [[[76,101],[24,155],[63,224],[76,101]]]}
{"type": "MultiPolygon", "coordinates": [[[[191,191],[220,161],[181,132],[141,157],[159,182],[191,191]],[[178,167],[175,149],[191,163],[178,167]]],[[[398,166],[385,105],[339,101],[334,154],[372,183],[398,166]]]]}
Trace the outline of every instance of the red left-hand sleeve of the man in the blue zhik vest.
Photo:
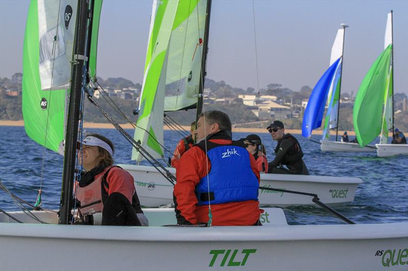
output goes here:
{"type": "Polygon", "coordinates": [[[176,211],[177,223],[179,224],[197,224],[195,208],[197,197],[195,187],[200,179],[207,175],[211,165],[208,160],[208,171],[206,169],[207,157],[201,148],[191,147],[180,159],[176,167],[177,183],[174,186],[174,207],[176,211]]]}

